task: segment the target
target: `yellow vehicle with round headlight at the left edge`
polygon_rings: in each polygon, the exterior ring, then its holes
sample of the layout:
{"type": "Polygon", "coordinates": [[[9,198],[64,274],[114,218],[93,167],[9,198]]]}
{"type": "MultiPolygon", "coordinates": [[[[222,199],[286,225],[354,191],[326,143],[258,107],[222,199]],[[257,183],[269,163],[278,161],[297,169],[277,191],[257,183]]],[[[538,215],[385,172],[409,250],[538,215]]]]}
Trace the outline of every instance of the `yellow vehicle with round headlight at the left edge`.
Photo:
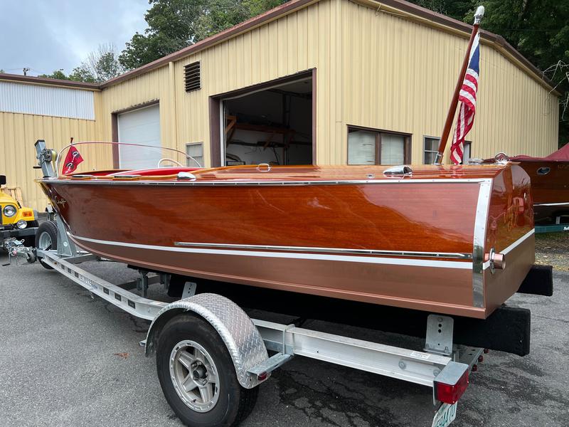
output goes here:
{"type": "Polygon", "coordinates": [[[6,176],[0,175],[0,249],[4,240],[16,238],[23,240],[25,246],[34,246],[38,229],[38,212],[21,206],[13,197],[4,193],[1,186],[6,184],[6,176]]]}

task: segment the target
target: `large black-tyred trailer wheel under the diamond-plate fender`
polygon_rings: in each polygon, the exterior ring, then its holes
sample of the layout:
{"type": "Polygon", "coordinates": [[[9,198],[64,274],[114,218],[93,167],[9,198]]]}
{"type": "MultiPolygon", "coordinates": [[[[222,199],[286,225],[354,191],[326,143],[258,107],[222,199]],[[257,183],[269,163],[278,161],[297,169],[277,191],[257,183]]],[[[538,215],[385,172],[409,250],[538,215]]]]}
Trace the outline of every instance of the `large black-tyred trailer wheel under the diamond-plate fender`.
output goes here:
{"type": "Polygon", "coordinates": [[[186,426],[236,426],[258,387],[244,389],[218,332],[201,317],[179,315],[161,330],[156,369],[166,401],[186,426]]]}

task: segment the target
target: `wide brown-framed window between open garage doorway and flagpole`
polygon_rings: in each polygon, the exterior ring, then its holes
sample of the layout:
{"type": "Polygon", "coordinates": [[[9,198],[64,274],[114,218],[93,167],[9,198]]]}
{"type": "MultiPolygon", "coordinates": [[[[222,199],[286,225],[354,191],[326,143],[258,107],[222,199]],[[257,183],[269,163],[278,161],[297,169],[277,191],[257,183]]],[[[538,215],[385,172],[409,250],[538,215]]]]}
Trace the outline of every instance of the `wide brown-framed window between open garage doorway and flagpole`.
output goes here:
{"type": "Polygon", "coordinates": [[[348,164],[405,164],[410,158],[410,135],[348,127],[348,164]]]}

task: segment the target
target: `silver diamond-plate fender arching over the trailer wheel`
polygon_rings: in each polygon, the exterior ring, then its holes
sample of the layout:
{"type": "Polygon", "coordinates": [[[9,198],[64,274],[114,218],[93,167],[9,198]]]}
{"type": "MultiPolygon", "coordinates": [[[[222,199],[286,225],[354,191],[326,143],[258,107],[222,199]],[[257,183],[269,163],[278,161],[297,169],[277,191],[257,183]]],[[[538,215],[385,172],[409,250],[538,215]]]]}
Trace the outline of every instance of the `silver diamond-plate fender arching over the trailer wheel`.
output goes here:
{"type": "Polygon", "coordinates": [[[147,334],[145,353],[154,351],[156,337],[166,322],[182,312],[194,312],[205,319],[219,334],[229,351],[241,386],[252,389],[262,383],[247,371],[268,359],[261,334],[249,316],[228,298],[203,293],[166,305],[154,317],[147,334]]]}

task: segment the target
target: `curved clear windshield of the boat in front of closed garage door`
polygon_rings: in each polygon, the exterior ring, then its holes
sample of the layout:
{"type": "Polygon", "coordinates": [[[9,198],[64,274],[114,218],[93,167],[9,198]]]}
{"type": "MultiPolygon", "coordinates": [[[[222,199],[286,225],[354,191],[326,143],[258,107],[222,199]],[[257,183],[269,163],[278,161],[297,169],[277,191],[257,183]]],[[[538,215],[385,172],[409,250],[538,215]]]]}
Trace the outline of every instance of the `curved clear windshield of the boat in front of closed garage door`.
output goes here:
{"type": "Polygon", "coordinates": [[[140,169],[201,168],[200,160],[167,147],[129,142],[74,142],[60,150],[60,175],[140,169]]]}

